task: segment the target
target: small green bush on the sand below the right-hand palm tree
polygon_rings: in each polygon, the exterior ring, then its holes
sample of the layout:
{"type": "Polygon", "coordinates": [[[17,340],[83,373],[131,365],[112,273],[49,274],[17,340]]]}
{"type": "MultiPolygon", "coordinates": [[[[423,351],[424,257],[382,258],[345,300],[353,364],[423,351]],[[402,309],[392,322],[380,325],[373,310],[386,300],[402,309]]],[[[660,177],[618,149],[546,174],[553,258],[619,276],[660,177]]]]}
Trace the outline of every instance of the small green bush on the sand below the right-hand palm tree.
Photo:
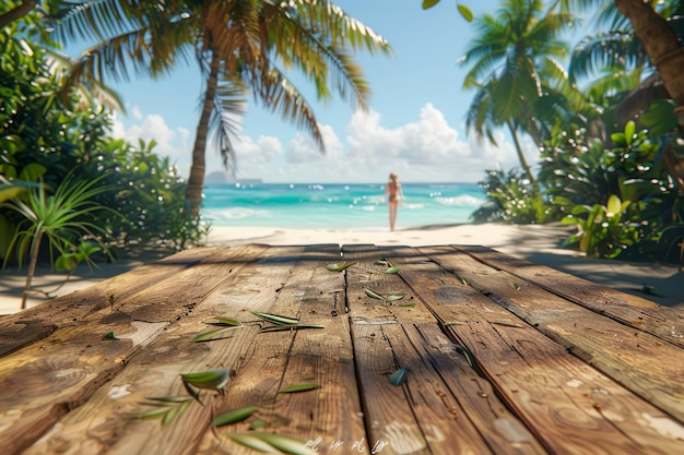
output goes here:
{"type": "Polygon", "coordinates": [[[558,218],[540,187],[514,170],[488,170],[480,185],[487,201],[470,216],[473,223],[538,224],[558,218]]]}

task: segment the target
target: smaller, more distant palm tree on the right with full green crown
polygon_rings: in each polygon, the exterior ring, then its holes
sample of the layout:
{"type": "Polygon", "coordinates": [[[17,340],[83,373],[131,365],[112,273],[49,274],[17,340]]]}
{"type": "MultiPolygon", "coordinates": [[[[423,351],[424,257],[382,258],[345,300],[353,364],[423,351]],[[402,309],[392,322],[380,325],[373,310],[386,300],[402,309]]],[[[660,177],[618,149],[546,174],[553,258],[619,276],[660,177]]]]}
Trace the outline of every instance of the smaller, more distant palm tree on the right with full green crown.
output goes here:
{"type": "Polygon", "coordinates": [[[540,121],[533,106],[553,89],[544,85],[543,74],[561,68],[555,58],[566,57],[568,47],[556,36],[576,19],[567,13],[543,14],[541,0],[507,0],[496,16],[485,14],[476,23],[477,36],[461,59],[461,65],[472,65],[463,87],[477,91],[467,113],[467,127],[491,142],[494,128],[507,128],[522,168],[534,181],[518,132],[540,140],[535,137],[540,121]]]}

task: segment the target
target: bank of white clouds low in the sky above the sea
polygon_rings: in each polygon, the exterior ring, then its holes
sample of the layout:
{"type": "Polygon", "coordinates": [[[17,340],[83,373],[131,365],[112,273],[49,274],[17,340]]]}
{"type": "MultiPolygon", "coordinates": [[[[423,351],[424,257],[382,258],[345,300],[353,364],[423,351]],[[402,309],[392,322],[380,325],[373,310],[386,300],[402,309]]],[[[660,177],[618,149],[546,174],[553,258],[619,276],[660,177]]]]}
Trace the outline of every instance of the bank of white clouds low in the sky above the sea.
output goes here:
{"type": "MultiPolygon", "coordinates": [[[[190,131],[168,127],[161,115],[139,113],[139,121],[129,128],[116,120],[114,134],[132,143],[138,137],[154,137],[158,142],[156,152],[170,156],[180,171],[187,172],[192,146],[190,131]]],[[[503,131],[496,133],[498,146],[474,137],[461,139],[432,104],[421,109],[415,122],[394,129],[384,127],[376,111],[356,112],[346,125],[344,141],[331,125],[321,124],[320,129],[325,153],[305,132],[295,133],[286,147],[283,137],[253,139],[241,134],[233,143],[238,178],[295,183],[384,182],[393,170],[403,181],[474,182],[484,178],[486,169],[519,167],[512,144],[503,131]]],[[[529,159],[534,163],[534,157],[529,159]]],[[[208,152],[208,172],[220,170],[221,166],[220,156],[208,152]]]]}

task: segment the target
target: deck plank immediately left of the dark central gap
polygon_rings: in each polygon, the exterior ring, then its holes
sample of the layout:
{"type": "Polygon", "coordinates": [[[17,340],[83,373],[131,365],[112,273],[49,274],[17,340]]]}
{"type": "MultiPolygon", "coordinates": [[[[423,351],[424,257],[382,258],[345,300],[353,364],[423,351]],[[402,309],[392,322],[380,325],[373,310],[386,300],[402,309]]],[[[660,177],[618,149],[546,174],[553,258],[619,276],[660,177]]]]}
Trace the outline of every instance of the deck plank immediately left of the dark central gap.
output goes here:
{"type": "Polygon", "coordinates": [[[273,308],[298,310],[302,323],[325,326],[294,333],[283,356],[286,363],[281,378],[282,386],[314,383],[320,387],[279,394],[263,416],[267,421],[287,421],[272,431],[307,441],[317,453],[349,451],[366,439],[349,319],[343,310],[344,276],[326,268],[339,256],[338,246],[307,248],[273,308]]]}

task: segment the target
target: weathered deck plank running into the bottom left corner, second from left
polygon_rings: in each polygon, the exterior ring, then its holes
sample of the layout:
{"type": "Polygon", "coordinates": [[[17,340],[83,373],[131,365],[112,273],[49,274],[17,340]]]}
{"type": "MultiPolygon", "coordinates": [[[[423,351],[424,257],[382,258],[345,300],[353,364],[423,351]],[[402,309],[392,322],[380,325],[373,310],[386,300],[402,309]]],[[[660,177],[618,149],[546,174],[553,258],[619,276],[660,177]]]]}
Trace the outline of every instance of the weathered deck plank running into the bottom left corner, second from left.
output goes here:
{"type": "MultiPolygon", "coordinates": [[[[224,251],[225,258],[236,254],[239,256],[243,251],[246,253],[243,258],[248,259],[258,256],[263,249],[224,251]]],[[[209,264],[221,259],[216,258],[216,251],[207,252],[211,255],[209,264]]],[[[160,297],[162,292],[158,288],[164,283],[167,286],[176,284],[179,287],[168,289],[174,295],[182,286],[193,283],[193,295],[202,295],[226,279],[223,273],[197,276],[196,273],[203,267],[197,265],[191,270],[184,268],[172,284],[162,282],[150,287],[148,291],[160,297]],[[186,275],[194,278],[189,279],[186,275]]],[[[144,291],[142,295],[133,294],[131,298],[134,296],[139,300],[122,299],[118,302],[118,308],[105,308],[92,313],[80,325],[58,328],[40,343],[34,343],[0,359],[0,446],[12,452],[31,445],[52,428],[59,417],[81,406],[103,383],[119,374],[129,359],[150,342],[141,340],[135,335],[138,327],[133,324],[134,314],[140,313],[145,304],[158,308],[160,301],[156,298],[145,298],[149,296],[144,291]],[[121,335],[122,339],[103,339],[103,335],[109,332],[121,335]],[[130,338],[123,339],[123,336],[130,338]]],[[[158,310],[162,318],[139,322],[164,324],[188,314],[187,307],[173,304],[174,300],[184,303],[181,297],[167,296],[165,299],[167,304],[158,310]]],[[[155,327],[156,330],[150,331],[151,336],[160,333],[158,325],[155,327]]]]}

